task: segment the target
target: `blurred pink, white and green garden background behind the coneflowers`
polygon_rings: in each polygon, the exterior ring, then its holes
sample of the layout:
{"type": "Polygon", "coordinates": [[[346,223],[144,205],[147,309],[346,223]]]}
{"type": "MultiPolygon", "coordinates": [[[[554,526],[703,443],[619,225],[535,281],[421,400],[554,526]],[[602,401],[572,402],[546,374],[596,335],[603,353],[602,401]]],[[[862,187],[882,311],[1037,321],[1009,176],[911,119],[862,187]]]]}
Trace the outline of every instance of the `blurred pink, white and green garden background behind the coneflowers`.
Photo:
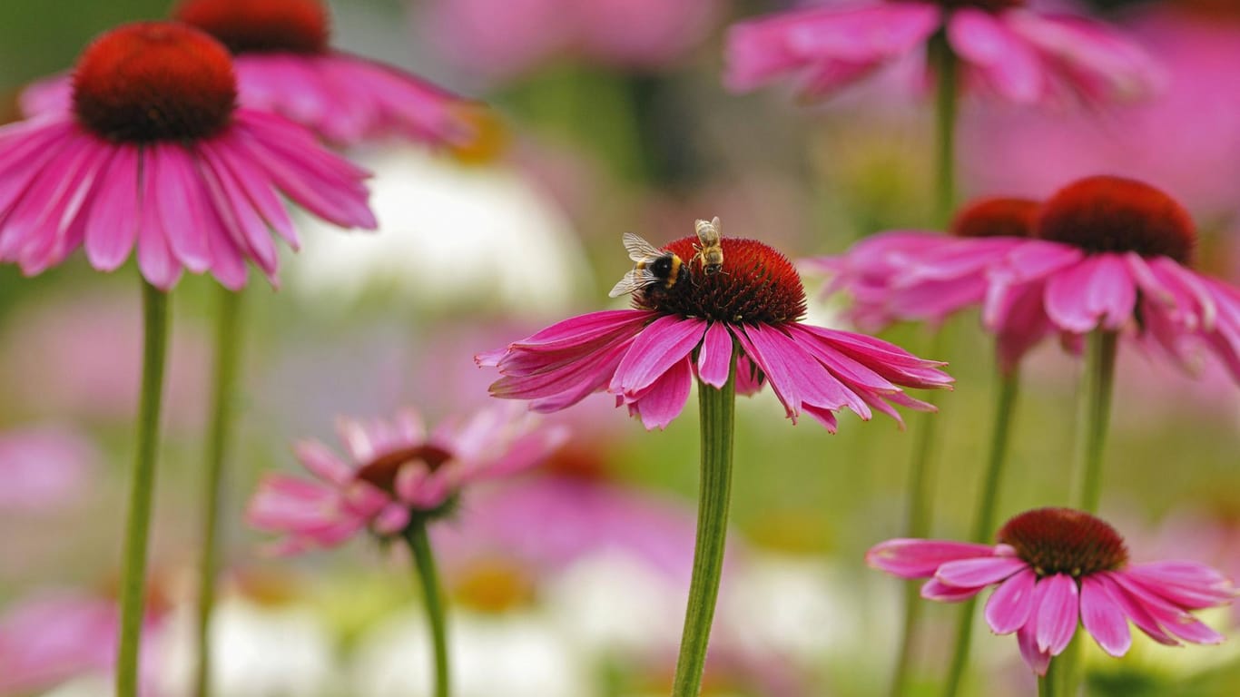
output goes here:
{"type": "MultiPolygon", "coordinates": [[[[694,218],[720,216],[725,234],[801,258],[929,218],[923,97],[879,81],[811,107],[777,88],[738,97],[720,86],[725,27],[787,4],[575,0],[565,12],[562,2],[331,2],[334,45],[486,100],[505,135],[459,154],[351,151],[376,174],[381,231],[303,221],[304,251],[285,253],[281,288],[247,291],[213,637],[221,696],[415,696],[429,685],[398,549],[357,541],[270,559],[246,527],[262,473],[298,470],[293,440],[332,443],[345,414],[412,404],[438,419],[486,404],[496,376],[474,366],[476,352],[625,306],[606,298],[630,267],[625,231],[661,246],[691,234],[694,218]]],[[[99,31],[165,16],[167,5],[5,0],[0,114],[17,118],[21,87],[71,67],[99,31]]],[[[1167,67],[1167,93],[1101,114],[966,100],[963,195],[1045,196],[1081,175],[1138,176],[1192,210],[1198,267],[1240,282],[1240,2],[1076,6],[1133,31],[1167,67]]],[[[822,279],[805,280],[816,295],[822,279]]],[[[148,649],[166,696],[182,693],[190,670],[210,283],[187,277],[172,300],[148,649]]],[[[816,300],[811,319],[842,327],[843,301],[816,300]]],[[[977,325],[976,315],[951,321],[952,355],[934,356],[957,380],[936,417],[935,537],[967,536],[991,428],[992,344],[977,325]]],[[[884,336],[914,352],[929,344],[918,326],[884,336]]],[[[0,695],[108,693],[94,636],[118,575],[139,346],[133,268],[103,275],[78,258],[24,279],[0,267],[0,666],[5,652],[53,655],[25,683],[10,675],[6,687],[0,675],[0,695]],[[52,625],[68,629],[31,639],[52,625]]],[[[1240,389],[1218,366],[1189,376],[1132,348],[1121,350],[1102,515],[1138,561],[1188,557],[1235,574],[1240,389]]],[[[1066,504],[1080,362],[1045,345],[1025,373],[1001,517],[1066,504]]],[[[595,396],[554,417],[575,437],[551,464],[465,501],[436,539],[460,697],[665,693],[692,553],[694,409],[691,399],[671,427],[647,433],[595,396]]],[[[863,554],[903,528],[914,439],[889,419],[844,415],[828,435],[780,412],[769,392],[738,407],[732,556],[704,695],[885,693],[900,585],[863,554]]],[[[925,616],[915,690],[934,695],[955,613],[935,605],[925,616]]],[[[1209,619],[1228,628],[1236,618],[1209,619]]],[[[1030,693],[1016,641],[976,634],[970,693],[1030,693]]],[[[1235,695],[1240,650],[1138,640],[1123,661],[1091,651],[1087,670],[1092,695],[1235,695]]]]}

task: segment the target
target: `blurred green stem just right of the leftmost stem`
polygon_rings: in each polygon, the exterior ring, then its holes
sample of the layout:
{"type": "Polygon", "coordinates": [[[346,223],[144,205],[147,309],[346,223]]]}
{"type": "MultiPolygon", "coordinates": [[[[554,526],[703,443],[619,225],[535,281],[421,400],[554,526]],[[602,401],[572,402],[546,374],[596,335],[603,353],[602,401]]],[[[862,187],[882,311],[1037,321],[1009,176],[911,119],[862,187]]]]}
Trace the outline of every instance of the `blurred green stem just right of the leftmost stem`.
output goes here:
{"type": "Polygon", "coordinates": [[[215,387],[211,393],[211,424],[207,438],[206,501],[202,517],[202,548],[198,559],[197,668],[193,695],[207,697],[211,681],[211,610],[216,604],[216,573],[219,556],[219,505],[223,463],[232,440],[236,411],[237,356],[241,352],[239,316],[242,294],[218,286],[216,315],[215,387]]]}

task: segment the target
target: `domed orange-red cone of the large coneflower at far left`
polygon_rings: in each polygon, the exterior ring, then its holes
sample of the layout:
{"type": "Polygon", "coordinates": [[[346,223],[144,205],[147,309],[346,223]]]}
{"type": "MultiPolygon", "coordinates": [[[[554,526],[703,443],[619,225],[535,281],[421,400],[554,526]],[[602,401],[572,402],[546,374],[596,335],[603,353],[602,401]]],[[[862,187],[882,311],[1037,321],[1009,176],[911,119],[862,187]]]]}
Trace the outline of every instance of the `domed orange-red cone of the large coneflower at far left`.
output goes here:
{"type": "Polygon", "coordinates": [[[228,51],[180,24],[114,29],[82,52],[73,71],[78,122],[109,140],[208,138],[228,125],[236,108],[228,51]]]}

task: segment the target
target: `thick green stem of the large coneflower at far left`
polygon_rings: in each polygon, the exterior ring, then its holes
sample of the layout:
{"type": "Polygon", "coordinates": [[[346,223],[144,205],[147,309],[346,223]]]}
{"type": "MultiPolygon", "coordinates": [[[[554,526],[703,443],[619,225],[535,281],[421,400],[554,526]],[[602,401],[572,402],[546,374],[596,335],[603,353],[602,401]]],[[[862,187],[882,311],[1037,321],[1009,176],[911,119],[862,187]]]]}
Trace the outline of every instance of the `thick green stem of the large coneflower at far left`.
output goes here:
{"type": "Polygon", "coordinates": [[[167,295],[143,280],[143,387],[138,407],[138,451],[129,490],[120,580],[120,642],[117,696],[138,695],[138,660],[146,610],[146,546],[150,539],[155,460],[159,454],[164,358],[167,348],[167,295]]]}

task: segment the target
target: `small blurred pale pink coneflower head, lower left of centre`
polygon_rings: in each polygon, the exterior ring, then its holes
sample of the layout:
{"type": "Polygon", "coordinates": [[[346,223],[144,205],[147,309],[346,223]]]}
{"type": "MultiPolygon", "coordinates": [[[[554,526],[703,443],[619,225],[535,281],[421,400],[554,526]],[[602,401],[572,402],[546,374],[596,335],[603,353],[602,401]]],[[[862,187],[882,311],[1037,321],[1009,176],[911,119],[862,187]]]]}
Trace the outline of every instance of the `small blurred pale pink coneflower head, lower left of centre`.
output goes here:
{"type": "Polygon", "coordinates": [[[283,553],[340,544],[367,528],[397,536],[451,512],[470,484],[537,465],[564,438],[562,429],[536,429],[502,411],[429,434],[412,411],[391,422],[342,420],[347,458],[319,442],[298,445],[315,480],[268,475],[250,500],[249,523],[286,535],[277,548],[283,553]]]}

